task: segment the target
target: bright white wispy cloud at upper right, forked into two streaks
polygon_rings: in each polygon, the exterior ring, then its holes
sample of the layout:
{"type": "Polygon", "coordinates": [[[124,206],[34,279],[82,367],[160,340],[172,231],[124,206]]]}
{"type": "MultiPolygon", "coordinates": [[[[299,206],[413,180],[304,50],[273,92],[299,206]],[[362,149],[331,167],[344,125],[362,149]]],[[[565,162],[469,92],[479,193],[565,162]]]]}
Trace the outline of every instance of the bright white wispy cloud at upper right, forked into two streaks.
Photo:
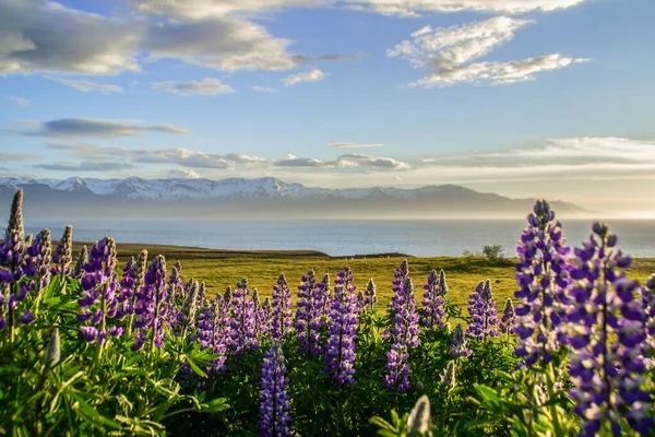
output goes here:
{"type": "Polygon", "coordinates": [[[388,50],[386,56],[407,59],[414,68],[432,70],[433,73],[409,84],[424,87],[532,81],[538,72],[587,60],[552,54],[509,62],[472,62],[511,40],[517,29],[531,23],[529,20],[495,16],[448,28],[432,29],[426,26],[412,34],[414,39],[404,40],[388,50]]]}

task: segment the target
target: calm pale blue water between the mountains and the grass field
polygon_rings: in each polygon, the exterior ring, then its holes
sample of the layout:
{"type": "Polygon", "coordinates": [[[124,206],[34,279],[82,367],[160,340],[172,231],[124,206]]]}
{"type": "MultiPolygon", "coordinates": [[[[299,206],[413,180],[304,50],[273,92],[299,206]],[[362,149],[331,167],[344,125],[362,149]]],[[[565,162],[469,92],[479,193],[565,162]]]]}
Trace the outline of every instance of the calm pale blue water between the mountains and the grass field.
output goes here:
{"type": "MultiPolygon", "coordinates": [[[[619,247],[633,257],[655,257],[655,221],[608,221],[619,247]]],[[[26,231],[43,227],[59,238],[66,224],[74,239],[195,246],[214,249],[311,249],[332,256],[403,252],[419,257],[458,256],[484,245],[502,245],[513,256],[524,221],[27,221],[26,231]]],[[[571,245],[591,232],[590,221],[563,222],[571,245]]]]}

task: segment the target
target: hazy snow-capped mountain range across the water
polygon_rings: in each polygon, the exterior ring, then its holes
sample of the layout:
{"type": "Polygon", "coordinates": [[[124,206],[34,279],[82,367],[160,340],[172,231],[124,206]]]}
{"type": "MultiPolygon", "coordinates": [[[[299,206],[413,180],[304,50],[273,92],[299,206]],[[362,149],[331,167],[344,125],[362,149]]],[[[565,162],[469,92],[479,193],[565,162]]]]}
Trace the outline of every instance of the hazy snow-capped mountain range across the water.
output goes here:
{"type": "MultiPolygon", "coordinates": [[[[534,199],[510,199],[455,185],[415,189],[327,189],[257,179],[0,178],[0,214],[24,190],[27,216],[67,218],[501,218],[524,217],[534,199]]],[[[551,201],[563,216],[590,212],[551,201]]]]}

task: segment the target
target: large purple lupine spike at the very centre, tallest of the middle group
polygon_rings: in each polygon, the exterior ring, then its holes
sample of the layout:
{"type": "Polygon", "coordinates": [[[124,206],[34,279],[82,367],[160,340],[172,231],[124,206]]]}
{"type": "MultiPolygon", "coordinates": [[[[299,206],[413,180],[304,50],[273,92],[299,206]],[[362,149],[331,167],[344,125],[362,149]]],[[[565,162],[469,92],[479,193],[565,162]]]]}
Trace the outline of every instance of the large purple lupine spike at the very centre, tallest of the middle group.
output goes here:
{"type": "Polygon", "coordinates": [[[329,336],[325,345],[324,370],[333,383],[353,383],[355,375],[355,339],[357,336],[357,296],[353,271],[346,267],[334,281],[330,303],[329,336]]]}

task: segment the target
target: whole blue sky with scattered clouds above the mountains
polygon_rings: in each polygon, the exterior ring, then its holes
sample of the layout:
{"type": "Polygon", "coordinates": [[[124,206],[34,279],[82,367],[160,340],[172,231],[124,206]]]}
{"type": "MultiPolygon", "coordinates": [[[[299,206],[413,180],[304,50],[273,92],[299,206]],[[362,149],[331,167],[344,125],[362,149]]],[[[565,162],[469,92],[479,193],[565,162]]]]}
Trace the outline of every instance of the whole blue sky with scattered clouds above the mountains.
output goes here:
{"type": "Polygon", "coordinates": [[[650,214],[653,16],[650,0],[0,0],[0,176],[461,184],[650,214]]]}

